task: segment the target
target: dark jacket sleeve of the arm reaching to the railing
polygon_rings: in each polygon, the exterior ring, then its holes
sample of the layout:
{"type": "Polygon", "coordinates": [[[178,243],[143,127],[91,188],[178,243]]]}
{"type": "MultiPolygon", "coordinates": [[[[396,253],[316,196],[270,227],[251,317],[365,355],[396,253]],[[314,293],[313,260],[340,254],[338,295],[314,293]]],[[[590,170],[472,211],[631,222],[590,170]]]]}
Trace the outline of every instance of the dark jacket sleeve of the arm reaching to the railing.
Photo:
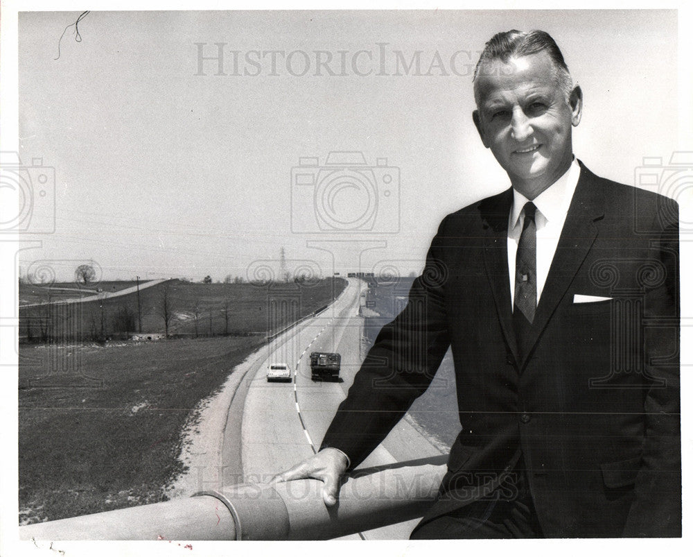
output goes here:
{"type": "Polygon", "coordinates": [[[378,446],[426,391],[450,345],[444,307],[447,220],[432,241],[407,305],[380,330],[325,434],[320,448],[340,449],[349,456],[351,468],[378,446]]]}

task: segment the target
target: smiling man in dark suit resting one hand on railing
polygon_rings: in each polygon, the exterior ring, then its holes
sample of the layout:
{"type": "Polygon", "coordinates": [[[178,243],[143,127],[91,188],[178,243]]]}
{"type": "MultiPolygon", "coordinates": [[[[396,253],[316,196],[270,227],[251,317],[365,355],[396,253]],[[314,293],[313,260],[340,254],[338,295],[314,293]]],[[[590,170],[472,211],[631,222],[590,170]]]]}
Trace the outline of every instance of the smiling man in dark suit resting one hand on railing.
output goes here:
{"type": "Polygon", "coordinates": [[[334,504],[451,346],[461,431],[412,538],[680,536],[676,203],[574,159],[582,93],[547,33],[495,35],[474,92],[512,188],[444,219],[321,450],[278,479],[334,504]]]}

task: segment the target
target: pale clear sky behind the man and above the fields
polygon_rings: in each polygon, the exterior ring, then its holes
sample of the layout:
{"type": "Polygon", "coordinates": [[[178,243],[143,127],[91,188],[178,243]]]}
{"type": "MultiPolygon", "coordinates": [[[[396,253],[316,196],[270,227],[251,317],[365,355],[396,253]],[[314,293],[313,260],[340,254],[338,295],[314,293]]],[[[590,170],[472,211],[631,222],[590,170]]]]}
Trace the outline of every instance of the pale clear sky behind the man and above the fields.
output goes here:
{"type": "Polygon", "coordinates": [[[220,280],[278,271],[281,247],[288,271],[419,271],[445,214],[509,187],[472,123],[471,67],[510,28],[563,50],[591,170],[633,184],[679,137],[673,11],[90,12],[55,60],[78,15],[19,18],[19,154],[55,168],[30,227],[56,215],[24,272],[220,280]],[[227,75],[200,62],[216,43],[227,75]],[[333,155],[347,170],[330,174],[331,151],[367,164],[333,155]]]}

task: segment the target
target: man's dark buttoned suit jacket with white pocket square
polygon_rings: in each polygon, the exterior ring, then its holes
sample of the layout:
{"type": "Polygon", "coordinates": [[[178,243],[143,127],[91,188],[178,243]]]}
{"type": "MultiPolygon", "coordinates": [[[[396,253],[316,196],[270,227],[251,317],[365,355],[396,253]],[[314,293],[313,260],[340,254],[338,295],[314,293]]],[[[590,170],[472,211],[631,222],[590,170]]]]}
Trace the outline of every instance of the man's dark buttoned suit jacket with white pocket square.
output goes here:
{"type": "Polygon", "coordinates": [[[326,433],[358,465],[451,346],[461,429],[422,524],[513,497],[521,454],[547,537],[681,535],[678,206],[580,164],[531,350],[512,325],[507,190],[442,221],[326,433]]]}

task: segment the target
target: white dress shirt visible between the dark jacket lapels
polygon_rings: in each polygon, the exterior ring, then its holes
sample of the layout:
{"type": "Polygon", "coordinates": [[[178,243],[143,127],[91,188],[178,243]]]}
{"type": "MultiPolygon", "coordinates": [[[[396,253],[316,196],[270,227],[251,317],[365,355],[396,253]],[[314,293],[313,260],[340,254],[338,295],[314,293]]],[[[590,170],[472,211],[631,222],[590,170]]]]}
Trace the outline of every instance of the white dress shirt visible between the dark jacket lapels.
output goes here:
{"type": "MultiPolygon", "coordinates": [[[[575,193],[577,180],[580,177],[580,165],[573,157],[570,168],[556,182],[547,187],[536,198],[536,303],[539,303],[541,291],[544,289],[549,267],[556,252],[565,216],[575,193]]],[[[513,206],[510,209],[508,221],[508,271],[510,273],[510,300],[515,304],[515,257],[520,241],[520,234],[525,223],[523,208],[527,199],[519,191],[513,189],[513,206]]]]}

